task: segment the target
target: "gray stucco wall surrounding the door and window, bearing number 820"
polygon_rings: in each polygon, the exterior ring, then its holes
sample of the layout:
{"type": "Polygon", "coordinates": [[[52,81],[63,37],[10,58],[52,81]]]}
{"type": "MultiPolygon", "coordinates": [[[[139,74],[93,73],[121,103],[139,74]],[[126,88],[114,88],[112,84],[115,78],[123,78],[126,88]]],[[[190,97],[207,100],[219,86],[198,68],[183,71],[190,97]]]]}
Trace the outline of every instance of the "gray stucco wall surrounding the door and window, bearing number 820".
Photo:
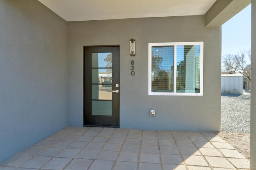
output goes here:
{"type": "Polygon", "coordinates": [[[120,45],[121,128],[220,131],[221,27],[205,28],[204,16],[68,22],[70,126],[83,125],[83,46],[90,45],[120,45]],[[148,43],[191,41],[204,41],[203,96],[148,96],[148,43]]]}

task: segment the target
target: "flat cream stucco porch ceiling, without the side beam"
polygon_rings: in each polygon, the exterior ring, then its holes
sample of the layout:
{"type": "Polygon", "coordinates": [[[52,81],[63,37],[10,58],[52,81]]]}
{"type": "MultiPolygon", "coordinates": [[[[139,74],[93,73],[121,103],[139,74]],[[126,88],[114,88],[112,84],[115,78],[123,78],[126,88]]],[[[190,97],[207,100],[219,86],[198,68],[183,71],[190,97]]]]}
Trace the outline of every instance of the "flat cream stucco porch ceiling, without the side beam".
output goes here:
{"type": "Polygon", "coordinates": [[[216,0],[39,0],[66,21],[204,15],[216,0]]]}

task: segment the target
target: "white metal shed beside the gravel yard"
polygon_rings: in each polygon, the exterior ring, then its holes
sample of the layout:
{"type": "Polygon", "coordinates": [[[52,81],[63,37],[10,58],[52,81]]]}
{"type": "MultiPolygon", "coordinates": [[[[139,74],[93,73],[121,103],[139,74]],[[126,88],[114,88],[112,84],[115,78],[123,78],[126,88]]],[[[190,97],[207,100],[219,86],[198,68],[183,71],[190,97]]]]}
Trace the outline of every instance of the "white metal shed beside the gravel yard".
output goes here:
{"type": "Polygon", "coordinates": [[[243,94],[243,75],[242,74],[222,74],[221,93],[243,94]]]}

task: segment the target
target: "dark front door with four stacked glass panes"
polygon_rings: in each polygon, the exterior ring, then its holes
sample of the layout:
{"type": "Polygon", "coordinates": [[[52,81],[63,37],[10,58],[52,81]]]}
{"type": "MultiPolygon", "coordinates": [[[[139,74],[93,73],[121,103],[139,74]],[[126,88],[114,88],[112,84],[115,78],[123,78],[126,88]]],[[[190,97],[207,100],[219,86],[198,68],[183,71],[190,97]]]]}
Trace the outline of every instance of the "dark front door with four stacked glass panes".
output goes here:
{"type": "Polygon", "coordinates": [[[119,47],[84,47],[84,125],[119,127],[119,47]]]}

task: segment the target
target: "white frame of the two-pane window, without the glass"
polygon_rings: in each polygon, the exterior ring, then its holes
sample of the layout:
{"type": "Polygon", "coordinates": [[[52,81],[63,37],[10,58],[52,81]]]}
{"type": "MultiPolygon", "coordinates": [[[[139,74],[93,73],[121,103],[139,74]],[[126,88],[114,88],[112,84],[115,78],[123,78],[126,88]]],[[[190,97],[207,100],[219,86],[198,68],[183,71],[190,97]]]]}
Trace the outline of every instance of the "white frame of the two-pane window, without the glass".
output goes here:
{"type": "MultiPolygon", "coordinates": [[[[203,63],[204,63],[204,42],[178,42],[178,43],[148,43],[148,95],[150,96],[203,96],[203,63]],[[200,45],[200,92],[199,93],[186,93],[176,92],[176,85],[174,92],[152,92],[152,47],[153,46],[174,46],[174,63],[176,63],[177,45],[200,45]]],[[[174,64],[174,70],[177,70],[177,65],[174,64]]],[[[177,74],[174,72],[174,84],[176,84],[177,74]]]]}

